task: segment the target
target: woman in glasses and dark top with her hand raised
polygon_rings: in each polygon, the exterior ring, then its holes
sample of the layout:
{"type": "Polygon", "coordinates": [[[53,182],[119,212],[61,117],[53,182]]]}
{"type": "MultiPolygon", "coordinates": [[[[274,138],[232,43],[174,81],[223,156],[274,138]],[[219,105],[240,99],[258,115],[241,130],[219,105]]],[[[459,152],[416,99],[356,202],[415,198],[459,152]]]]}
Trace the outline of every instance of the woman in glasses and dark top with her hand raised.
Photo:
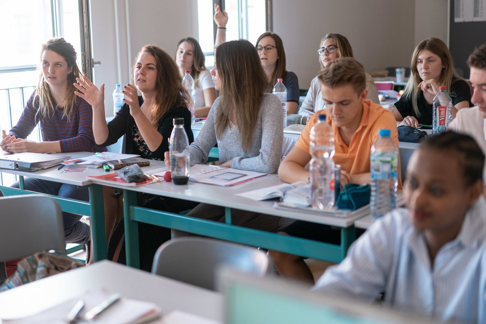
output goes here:
{"type": "MultiPolygon", "coordinates": [[[[214,4],[214,22],[217,26],[216,46],[225,42],[226,23],[228,16],[224,15],[219,5],[214,4]]],[[[287,71],[285,50],[283,49],[282,39],[275,33],[266,32],[260,35],[257,40],[257,51],[261,66],[267,76],[268,85],[266,92],[272,92],[277,79],[282,79],[287,88],[287,114],[295,114],[299,105],[299,81],[294,72],[287,71]]]]}

